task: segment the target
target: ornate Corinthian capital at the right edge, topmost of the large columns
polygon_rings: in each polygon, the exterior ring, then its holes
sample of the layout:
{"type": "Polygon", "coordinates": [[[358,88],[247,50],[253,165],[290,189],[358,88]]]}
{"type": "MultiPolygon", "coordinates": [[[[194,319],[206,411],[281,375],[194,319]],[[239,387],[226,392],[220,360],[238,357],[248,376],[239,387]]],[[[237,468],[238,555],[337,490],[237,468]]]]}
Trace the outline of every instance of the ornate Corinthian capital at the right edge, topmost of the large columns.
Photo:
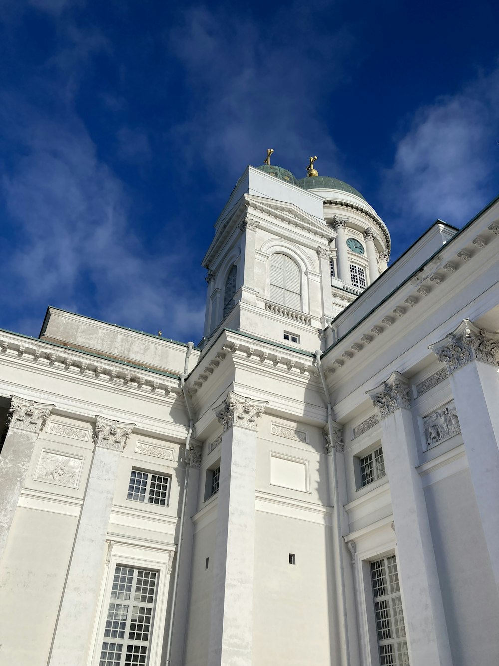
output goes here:
{"type": "Polygon", "coordinates": [[[439,361],[444,361],[448,374],[452,374],[466,363],[477,360],[497,367],[499,334],[478,328],[469,319],[464,319],[452,333],[440,342],[430,344],[439,361]]]}

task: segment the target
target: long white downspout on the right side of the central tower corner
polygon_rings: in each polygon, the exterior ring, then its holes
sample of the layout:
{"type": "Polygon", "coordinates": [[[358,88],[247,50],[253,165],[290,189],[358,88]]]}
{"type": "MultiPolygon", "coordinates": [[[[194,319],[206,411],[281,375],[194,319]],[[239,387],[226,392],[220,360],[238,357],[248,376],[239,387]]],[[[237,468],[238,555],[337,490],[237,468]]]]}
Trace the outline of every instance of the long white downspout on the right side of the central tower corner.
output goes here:
{"type": "Polygon", "coordinates": [[[321,376],[322,386],[327,400],[327,427],[329,431],[329,442],[331,443],[331,454],[328,454],[328,466],[329,466],[329,483],[333,488],[331,494],[333,495],[334,501],[334,513],[335,513],[335,527],[336,527],[336,538],[335,538],[335,550],[336,550],[336,587],[337,587],[337,597],[338,597],[338,617],[340,624],[340,647],[341,647],[341,663],[343,666],[350,666],[350,650],[349,650],[349,640],[348,640],[348,618],[347,618],[347,598],[345,593],[345,567],[343,566],[343,535],[341,533],[341,504],[339,498],[339,486],[338,486],[338,468],[336,460],[336,448],[333,444],[335,441],[334,430],[333,430],[333,408],[331,407],[331,396],[329,395],[329,389],[327,388],[326,378],[324,376],[324,370],[321,364],[321,351],[317,350],[315,352],[315,361],[317,362],[317,368],[319,369],[319,374],[321,376]],[[332,469],[331,469],[332,468],[332,469]]]}

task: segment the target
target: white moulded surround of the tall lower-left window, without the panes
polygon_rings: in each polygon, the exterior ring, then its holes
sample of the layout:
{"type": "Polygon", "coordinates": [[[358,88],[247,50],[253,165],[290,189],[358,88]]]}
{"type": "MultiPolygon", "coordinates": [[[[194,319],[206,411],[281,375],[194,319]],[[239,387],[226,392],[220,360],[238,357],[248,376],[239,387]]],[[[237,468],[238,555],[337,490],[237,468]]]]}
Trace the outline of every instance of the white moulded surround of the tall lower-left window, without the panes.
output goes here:
{"type": "Polygon", "coordinates": [[[93,645],[93,649],[90,650],[87,666],[98,666],[100,661],[100,651],[104,642],[104,629],[106,627],[116,565],[128,566],[132,569],[149,569],[150,571],[158,572],[154,618],[152,632],[149,637],[147,663],[148,665],[159,663],[168,606],[168,587],[170,585],[170,575],[168,575],[168,572],[172,565],[173,555],[174,551],[169,549],[160,550],[138,545],[115,543],[108,539],[108,559],[106,560],[106,570],[98,599],[99,610],[92,631],[91,645],[93,645]]]}

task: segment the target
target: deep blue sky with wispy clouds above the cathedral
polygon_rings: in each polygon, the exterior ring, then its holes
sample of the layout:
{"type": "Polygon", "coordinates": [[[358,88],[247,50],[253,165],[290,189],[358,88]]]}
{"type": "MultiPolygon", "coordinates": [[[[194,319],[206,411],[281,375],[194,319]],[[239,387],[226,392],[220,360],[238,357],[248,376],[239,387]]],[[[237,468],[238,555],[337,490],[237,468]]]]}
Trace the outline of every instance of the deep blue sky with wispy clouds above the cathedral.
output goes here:
{"type": "Polygon", "coordinates": [[[499,194],[499,5],[0,0],[0,327],[198,342],[247,164],[358,188],[395,259],[499,194]]]}

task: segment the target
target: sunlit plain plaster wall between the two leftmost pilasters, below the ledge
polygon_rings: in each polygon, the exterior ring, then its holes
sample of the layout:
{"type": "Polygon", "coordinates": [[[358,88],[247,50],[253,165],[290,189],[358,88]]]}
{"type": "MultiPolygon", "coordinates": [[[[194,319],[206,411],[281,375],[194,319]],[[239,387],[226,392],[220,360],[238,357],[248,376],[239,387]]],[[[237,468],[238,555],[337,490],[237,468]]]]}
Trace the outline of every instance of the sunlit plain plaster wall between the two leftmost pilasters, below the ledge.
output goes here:
{"type": "Polygon", "coordinates": [[[46,666],[77,517],[18,507],[0,568],[0,666],[46,666]]]}

